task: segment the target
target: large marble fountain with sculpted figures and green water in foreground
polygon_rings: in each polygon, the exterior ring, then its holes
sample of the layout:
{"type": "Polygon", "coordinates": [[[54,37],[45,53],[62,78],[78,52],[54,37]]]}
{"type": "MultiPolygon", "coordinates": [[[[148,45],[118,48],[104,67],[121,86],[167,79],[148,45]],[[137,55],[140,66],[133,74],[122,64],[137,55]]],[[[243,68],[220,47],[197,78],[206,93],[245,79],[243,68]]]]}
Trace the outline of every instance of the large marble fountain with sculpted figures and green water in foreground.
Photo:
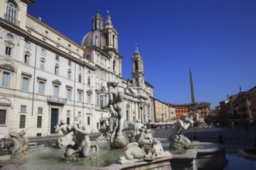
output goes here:
{"type": "MultiPolygon", "coordinates": [[[[104,107],[111,116],[101,129],[106,140],[90,141],[89,133],[75,117],[73,124],[58,124],[56,132],[64,136],[56,145],[29,148],[25,131],[12,133],[12,165],[19,169],[219,169],[227,165],[225,148],[213,143],[190,141],[182,132],[192,126],[188,115],[175,123],[168,139],[153,138],[153,131],[138,120],[128,138],[123,133],[125,117],[124,92],[117,82],[108,83],[109,104],[104,107]],[[130,141],[130,143],[129,143],[130,141]],[[21,155],[21,153],[29,153],[21,155]]],[[[34,145],[33,145],[34,146],[34,145]]]]}

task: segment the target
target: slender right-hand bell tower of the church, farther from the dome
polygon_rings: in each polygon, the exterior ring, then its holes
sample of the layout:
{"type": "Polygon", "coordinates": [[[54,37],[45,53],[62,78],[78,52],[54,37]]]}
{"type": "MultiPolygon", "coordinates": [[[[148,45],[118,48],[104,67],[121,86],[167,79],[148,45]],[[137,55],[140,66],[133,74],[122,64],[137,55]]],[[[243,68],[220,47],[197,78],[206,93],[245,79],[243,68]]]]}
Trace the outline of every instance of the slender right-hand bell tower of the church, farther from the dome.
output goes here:
{"type": "Polygon", "coordinates": [[[140,87],[144,84],[144,65],[137,44],[135,45],[135,52],[132,56],[132,67],[133,86],[140,87]]]}

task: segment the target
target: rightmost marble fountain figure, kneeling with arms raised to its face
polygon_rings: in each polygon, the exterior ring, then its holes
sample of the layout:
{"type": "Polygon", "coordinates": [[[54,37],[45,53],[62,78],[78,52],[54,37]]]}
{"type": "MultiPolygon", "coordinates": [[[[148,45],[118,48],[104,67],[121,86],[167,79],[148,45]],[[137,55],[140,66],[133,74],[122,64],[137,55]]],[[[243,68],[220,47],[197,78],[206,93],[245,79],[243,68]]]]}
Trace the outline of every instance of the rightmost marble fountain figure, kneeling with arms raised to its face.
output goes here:
{"type": "Polygon", "coordinates": [[[182,132],[189,128],[194,122],[189,118],[188,114],[182,114],[181,119],[177,121],[171,132],[170,148],[191,148],[191,141],[186,138],[182,132]]]}

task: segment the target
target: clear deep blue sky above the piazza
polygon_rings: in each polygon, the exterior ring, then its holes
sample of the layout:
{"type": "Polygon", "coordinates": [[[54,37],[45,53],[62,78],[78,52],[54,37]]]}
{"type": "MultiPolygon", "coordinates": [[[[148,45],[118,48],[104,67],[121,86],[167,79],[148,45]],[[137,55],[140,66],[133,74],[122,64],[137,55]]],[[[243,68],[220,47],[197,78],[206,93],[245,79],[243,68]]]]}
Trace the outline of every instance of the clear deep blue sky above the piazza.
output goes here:
{"type": "Polygon", "coordinates": [[[211,108],[256,86],[255,0],[35,0],[28,13],[80,43],[97,8],[119,32],[123,77],[137,43],[158,100],[191,103],[189,67],[195,101],[211,108]]]}

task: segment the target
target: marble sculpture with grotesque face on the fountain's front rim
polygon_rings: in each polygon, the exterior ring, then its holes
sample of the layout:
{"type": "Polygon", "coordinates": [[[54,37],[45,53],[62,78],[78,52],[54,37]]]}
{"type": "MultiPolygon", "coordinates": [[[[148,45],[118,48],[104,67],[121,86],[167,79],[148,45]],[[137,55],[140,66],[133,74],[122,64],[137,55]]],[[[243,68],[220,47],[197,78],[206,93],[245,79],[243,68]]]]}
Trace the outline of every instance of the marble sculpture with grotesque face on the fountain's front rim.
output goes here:
{"type": "Polygon", "coordinates": [[[126,162],[145,161],[152,162],[155,158],[171,155],[164,151],[161,142],[153,138],[149,129],[140,128],[140,138],[125,148],[123,157],[119,158],[121,164],[126,162]]]}

